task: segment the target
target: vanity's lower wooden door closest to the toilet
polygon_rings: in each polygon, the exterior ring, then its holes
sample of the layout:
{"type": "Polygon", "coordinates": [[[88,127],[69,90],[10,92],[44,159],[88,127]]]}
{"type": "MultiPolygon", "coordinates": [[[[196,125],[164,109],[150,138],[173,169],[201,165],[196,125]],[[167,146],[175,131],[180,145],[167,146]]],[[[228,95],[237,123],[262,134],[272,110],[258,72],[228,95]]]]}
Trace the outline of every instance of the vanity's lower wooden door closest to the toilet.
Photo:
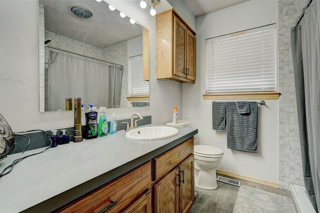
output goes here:
{"type": "Polygon", "coordinates": [[[194,203],[193,154],[179,165],[179,213],[187,213],[194,203]]]}

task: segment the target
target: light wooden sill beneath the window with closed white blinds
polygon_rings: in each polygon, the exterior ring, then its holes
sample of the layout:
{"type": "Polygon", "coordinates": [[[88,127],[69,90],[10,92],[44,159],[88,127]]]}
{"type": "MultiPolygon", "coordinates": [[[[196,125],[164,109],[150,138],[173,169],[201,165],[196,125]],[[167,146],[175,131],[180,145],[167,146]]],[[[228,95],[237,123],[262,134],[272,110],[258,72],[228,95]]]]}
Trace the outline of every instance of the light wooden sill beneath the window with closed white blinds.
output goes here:
{"type": "Polygon", "coordinates": [[[203,100],[279,99],[279,92],[212,93],[202,95],[203,100]]]}

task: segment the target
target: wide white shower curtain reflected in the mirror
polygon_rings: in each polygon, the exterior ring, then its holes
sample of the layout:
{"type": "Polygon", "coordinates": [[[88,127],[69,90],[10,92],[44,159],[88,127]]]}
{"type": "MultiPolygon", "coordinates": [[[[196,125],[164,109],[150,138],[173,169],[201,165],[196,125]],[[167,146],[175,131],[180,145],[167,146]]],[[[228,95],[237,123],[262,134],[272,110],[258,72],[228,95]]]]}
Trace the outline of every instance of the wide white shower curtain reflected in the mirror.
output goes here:
{"type": "Polygon", "coordinates": [[[108,65],[80,56],[50,50],[48,63],[48,111],[65,110],[65,97],[81,97],[81,103],[108,106],[108,65]]]}

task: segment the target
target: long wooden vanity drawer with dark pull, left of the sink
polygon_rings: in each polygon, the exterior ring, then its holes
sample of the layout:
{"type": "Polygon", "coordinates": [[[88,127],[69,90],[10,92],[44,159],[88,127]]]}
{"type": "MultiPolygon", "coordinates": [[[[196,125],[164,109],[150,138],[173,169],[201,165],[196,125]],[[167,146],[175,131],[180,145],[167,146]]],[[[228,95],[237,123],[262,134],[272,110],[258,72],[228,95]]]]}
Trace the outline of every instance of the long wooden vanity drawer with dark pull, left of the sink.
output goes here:
{"type": "Polygon", "coordinates": [[[147,162],[100,189],[85,195],[60,212],[119,212],[141,195],[144,190],[147,190],[151,183],[150,177],[151,164],[147,162]]]}

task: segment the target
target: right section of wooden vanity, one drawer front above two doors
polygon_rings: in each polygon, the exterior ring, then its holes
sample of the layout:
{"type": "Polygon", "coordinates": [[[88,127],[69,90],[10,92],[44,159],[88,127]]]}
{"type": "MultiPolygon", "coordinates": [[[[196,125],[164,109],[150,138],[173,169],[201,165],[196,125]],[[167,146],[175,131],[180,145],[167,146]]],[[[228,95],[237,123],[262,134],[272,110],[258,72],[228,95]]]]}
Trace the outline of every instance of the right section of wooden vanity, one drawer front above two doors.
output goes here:
{"type": "Polygon", "coordinates": [[[194,203],[192,153],[193,138],[190,138],[152,159],[153,178],[156,178],[154,213],[187,213],[191,209],[194,203]]]}

